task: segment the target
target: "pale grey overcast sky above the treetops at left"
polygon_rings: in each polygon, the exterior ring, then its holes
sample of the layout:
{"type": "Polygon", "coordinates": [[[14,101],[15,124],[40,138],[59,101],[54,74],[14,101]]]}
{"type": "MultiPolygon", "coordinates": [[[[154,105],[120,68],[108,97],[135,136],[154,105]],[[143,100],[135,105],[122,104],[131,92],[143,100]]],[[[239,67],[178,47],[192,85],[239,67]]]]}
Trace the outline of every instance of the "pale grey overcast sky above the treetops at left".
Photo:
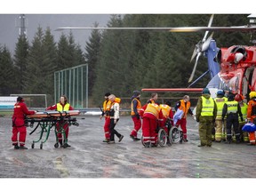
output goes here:
{"type": "MultiPolygon", "coordinates": [[[[19,37],[20,14],[0,14],[0,44],[6,44],[8,49],[14,53],[15,44],[19,37]]],[[[41,26],[44,30],[51,28],[55,42],[60,39],[61,33],[67,34],[69,30],[55,31],[59,27],[93,27],[98,22],[99,27],[106,27],[110,18],[109,14],[25,14],[27,21],[27,34],[29,44],[36,35],[37,28],[41,26]]],[[[72,30],[76,44],[80,44],[84,51],[85,42],[91,35],[91,30],[72,30]]]]}

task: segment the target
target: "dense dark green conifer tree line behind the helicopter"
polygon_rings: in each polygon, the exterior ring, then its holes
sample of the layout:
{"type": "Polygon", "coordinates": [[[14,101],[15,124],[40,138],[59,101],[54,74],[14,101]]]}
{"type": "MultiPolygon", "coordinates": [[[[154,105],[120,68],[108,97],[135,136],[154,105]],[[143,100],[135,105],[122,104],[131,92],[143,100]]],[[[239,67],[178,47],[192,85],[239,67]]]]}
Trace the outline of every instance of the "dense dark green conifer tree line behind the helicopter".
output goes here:
{"type": "MultiPolygon", "coordinates": [[[[203,14],[126,14],[112,15],[108,27],[184,27],[207,26],[210,15],[203,14]]],[[[247,15],[215,15],[212,26],[240,26],[247,15]]],[[[94,23],[94,27],[99,24],[94,23]]],[[[82,33],[82,32],[81,32],[82,33]]],[[[72,32],[61,34],[58,42],[51,28],[37,28],[31,41],[19,36],[14,55],[0,43],[0,95],[11,93],[47,94],[53,102],[54,72],[87,63],[89,67],[89,107],[99,106],[105,92],[130,97],[141,88],[188,87],[194,67],[190,63],[195,44],[204,32],[170,33],[154,30],[93,29],[85,47],[75,43],[72,32]]],[[[249,34],[215,32],[219,47],[249,44],[249,34]]],[[[206,70],[206,58],[200,58],[196,77],[206,70]]],[[[204,87],[209,76],[195,86],[204,87]]],[[[161,93],[168,97],[170,93],[161,93]]],[[[184,93],[181,93],[181,95],[184,93]]],[[[181,96],[172,93],[172,96],[181,96]]],[[[143,93],[148,97],[148,93],[143,93]]]]}

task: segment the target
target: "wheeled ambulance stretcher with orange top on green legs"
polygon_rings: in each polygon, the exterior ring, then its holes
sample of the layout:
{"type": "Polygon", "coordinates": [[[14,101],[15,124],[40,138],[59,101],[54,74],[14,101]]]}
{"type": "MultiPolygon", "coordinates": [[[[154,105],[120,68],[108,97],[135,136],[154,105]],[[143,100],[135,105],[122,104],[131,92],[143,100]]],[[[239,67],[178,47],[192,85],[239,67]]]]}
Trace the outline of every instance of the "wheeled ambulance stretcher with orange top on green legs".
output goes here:
{"type": "Polygon", "coordinates": [[[79,124],[76,122],[76,116],[79,116],[79,114],[79,110],[68,110],[36,112],[36,114],[32,116],[26,116],[25,124],[27,127],[30,126],[33,128],[36,125],[35,129],[32,132],[30,132],[29,135],[33,134],[33,132],[36,132],[37,128],[41,128],[39,132],[39,138],[37,140],[32,141],[31,148],[35,148],[35,143],[41,141],[40,149],[42,149],[44,142],[46,142],[46,140],[48,140],[49,138],[52,128],[54,128],[56,137],[56,143],[54,144],[54,148],[59,148],[59,140],[57,137],[58,133],[61,133],[63,136],[63,148],[65,148],[66,143],[68,142],[65,134],[65,127],[67,127],[67,125],[79,126],[79,124]],[[57,125],[59,129],[57,129],[57,125]],[[43,140],[44,132],[46,133],[46,136],[43,140]]]}

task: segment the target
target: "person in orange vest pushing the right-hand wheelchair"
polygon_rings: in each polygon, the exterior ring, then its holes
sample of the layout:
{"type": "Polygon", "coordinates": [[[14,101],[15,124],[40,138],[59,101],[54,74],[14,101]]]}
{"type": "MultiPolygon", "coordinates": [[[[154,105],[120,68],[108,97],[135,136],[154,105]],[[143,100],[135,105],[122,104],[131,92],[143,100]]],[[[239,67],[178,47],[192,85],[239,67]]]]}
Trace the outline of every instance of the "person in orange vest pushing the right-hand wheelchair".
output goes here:
{"type": "MultiPolygon", "coordinates": [[[[162,113],[163,113],[163,119],[164,119],[164,131],[166,132],[167,135],[169,135],[171,126],[173,126],[173,112],[172,112],[172,108],[171,108],[171,102],[169,100],[167,100],[164,104],[160,104],[160,108],[162,109],[162,113]],[[167,120],[169,120],[169,122],[171,123],[171,126],[168,126],[167,120]]],[[[167,144],[170,145],[170,140],[167,140],[167,144]]]]}

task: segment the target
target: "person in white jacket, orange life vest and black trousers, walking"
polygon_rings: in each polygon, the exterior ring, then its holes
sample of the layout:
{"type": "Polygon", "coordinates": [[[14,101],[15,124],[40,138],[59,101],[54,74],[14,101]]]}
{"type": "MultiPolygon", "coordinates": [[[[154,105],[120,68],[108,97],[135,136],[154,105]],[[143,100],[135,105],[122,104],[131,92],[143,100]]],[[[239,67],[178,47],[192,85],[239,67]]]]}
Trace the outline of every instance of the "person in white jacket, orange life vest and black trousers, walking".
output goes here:
{"type": "Polygon", "coordinates": [[[109,127],[110,140],[108,141],[108,144],[112,144],[112,143],[115,143],[115,134],[119,138],[118,142],[121,142],[121,140],[123,140],[124,135],[120,134],[115,129],[115,126],[116,126],[116,124],[119,120],[120,99],[116,98],[116,96],[114,94],[110,94],[108,96],[108,99],[111,101],[111,103],[110,103],[110,112],[109,112],[109,116],[110,116],[110,127],[109,127]]]}

